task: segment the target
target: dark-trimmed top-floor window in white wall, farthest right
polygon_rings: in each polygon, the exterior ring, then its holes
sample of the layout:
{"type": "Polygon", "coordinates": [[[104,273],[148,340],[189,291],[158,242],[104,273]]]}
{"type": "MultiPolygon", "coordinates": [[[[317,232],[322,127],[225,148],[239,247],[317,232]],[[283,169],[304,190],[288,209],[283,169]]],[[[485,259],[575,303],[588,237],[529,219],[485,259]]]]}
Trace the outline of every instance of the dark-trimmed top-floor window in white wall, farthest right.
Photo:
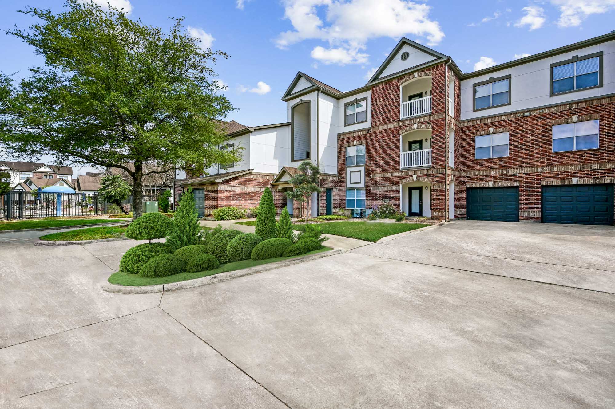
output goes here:
{"type": "Polygon", "coordinates": [[[602,52],[575,55],[570,60],[551,64],[550,68],[551,96],[602,85],[602,52]]]}

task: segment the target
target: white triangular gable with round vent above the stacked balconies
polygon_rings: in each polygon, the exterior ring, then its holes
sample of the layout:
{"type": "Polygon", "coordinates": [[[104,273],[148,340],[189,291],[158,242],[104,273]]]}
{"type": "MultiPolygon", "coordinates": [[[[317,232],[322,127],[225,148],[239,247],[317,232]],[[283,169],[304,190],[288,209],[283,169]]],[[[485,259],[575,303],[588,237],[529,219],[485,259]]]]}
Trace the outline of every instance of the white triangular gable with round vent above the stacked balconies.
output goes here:
{"type": "Polygon", "coordinates": [[[395,48],[379,66],[368,84],[396,72],[402,72],[444,58],[447,58],[446,55],[404,37],[395,45],[395,48]]]}

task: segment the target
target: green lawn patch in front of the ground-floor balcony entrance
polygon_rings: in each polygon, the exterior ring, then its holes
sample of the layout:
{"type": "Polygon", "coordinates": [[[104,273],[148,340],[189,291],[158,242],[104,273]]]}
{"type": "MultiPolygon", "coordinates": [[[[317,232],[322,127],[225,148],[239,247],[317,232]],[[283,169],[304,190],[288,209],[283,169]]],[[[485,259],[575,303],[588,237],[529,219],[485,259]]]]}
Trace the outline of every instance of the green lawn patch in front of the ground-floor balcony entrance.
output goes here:
{"type": "MultiPolygon", "coordinates": [[[[304,224],[295,224],[295,230],[305,230],[304,224]]],[[[331,222],[319,224],[320,231],[328,235],[343,236],[374,243],[383,237],[426,227],[418,223],[381,223],[381,222],[331,222]]]]}

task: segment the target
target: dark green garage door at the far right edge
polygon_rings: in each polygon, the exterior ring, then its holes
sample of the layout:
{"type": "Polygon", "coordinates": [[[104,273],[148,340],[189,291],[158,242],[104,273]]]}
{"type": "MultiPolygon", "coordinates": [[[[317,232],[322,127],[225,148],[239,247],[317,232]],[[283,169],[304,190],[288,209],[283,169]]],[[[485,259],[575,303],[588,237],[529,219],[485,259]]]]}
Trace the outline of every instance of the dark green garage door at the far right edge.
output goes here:
{"type": "Polygon", "coordinates": [[[542,222],[613,224],[613,185],[543,186],[542,222]]]}

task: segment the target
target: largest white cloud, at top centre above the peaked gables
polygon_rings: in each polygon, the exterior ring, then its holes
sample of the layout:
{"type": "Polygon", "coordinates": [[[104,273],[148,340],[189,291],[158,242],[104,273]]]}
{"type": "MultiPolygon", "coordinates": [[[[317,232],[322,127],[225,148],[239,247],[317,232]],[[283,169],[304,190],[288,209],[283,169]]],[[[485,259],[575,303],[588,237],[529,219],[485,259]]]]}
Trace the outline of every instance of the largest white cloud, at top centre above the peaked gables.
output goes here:
{"type": "Polygon", "coordinates": [[[316,39],[328,47],[315,47],[312,56],[325,64],[363,64],[367,41],[395,40],[412,35],[426,37],[428,45],[442,41],[440,24],[429,18],[431,7],[411,0],[283,0],[293,29],[280,33],[276,45],[285,49],[316,39]],[[321,20],[324,17],[324,21],[321,20]]]}

